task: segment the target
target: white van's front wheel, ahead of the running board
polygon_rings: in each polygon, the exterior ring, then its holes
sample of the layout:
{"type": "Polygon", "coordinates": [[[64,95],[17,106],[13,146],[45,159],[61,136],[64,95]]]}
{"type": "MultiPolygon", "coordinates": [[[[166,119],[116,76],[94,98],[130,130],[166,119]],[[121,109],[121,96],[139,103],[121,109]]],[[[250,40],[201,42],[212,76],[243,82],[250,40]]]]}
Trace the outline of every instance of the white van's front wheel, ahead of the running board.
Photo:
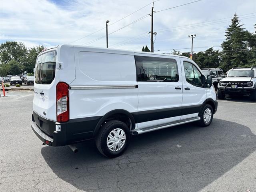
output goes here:
{"type": "Polygon", "coordinates": [[[201,118],[199,121],[200,126],[202,127],[209,126],[213,118],[212,106],[210,106],[209,104],[205,104],[204,108],[200,112],[200,118],[201,118]]]}

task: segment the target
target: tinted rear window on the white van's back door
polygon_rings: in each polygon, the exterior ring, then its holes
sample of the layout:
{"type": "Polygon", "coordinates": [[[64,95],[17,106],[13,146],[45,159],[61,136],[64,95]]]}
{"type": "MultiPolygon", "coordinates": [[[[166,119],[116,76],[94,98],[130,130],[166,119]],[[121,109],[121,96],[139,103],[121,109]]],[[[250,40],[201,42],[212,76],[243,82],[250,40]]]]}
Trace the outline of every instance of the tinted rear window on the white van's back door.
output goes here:
{"type": "Polygon", "coordinates": [[[51,84],[55,77],[57,52],[50,51],[40,55],[36,60],[35,83],[51,84]]]}

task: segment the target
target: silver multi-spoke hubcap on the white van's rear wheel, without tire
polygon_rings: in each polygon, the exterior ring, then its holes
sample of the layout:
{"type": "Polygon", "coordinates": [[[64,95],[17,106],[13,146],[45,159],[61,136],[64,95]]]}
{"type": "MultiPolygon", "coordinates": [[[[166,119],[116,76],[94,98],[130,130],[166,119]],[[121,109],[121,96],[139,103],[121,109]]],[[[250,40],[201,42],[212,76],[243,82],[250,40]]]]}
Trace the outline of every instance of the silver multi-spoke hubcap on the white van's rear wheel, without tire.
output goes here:
{"type": "Polygon", "coordinates": [[[107,138],[107,146],[110,151],[119,151],[125,144],[126,135],[120,128],[113,129],[107,138]]]}

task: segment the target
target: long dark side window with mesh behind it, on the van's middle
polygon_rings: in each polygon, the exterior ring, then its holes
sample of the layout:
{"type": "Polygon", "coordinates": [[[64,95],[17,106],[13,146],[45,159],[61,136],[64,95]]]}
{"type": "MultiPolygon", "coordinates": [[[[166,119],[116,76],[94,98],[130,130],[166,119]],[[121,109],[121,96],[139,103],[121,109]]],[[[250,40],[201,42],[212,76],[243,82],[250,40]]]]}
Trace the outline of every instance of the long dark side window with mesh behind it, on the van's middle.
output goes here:
{"type": "Polygon", "coordinates": [[[137,81],[178,82],[178,66],[175,59],[135,56],[137,81]]]}

